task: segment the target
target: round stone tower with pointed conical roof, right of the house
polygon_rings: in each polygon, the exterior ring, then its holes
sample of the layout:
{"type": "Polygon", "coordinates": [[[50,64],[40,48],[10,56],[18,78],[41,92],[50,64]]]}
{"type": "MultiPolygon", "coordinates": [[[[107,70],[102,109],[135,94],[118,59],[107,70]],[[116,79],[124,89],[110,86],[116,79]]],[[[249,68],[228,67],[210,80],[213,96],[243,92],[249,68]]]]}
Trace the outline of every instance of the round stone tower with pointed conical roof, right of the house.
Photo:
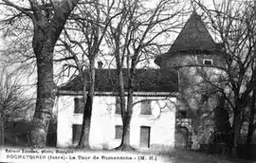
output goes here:
{"type": "Polygon", "coordinates": [[[205,75],[210,80],[216,80],[224,73],[224,53],[221,52],[221,45],[213,41],[209,30],[195,11],[169,51],[157,56],[155,63],[160,68],[179,72],[181,96],[178,110],[183,118],[187,117],[189,110],[207,112],[218,105],[218,97],[214,94],[214,88],[205,82],[205,75]]]}

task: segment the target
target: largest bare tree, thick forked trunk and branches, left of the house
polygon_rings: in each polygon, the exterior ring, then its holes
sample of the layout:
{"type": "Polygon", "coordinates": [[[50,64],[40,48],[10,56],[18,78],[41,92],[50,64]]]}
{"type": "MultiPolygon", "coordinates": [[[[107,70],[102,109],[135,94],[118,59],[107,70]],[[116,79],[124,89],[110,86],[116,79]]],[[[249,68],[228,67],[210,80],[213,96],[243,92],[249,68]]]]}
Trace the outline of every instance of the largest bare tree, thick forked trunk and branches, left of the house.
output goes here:
{"type": "MultiPolygon", "coordinates": [[[[6,35],[18,31],[16,22],[20,19],[33,27],[31,45],[37,63],[37,101],[33,122],[30,128],[30,143],[45,147],[49,120],[54,104],[53,51],[64,28],[65,22],[77,6],[79,0],[12,2],[2,0],[1,6],[6,13],[2,25],[6,35]]],[[[20,30],[24,33],[26,30],[20,30]]]]}

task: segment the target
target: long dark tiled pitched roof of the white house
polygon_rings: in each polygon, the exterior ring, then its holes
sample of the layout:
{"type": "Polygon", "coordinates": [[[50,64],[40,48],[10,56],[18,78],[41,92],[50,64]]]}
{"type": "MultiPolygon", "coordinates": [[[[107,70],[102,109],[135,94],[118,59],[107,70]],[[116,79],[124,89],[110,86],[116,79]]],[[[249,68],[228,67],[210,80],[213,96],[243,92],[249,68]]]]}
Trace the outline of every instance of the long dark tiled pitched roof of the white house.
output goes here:
{"type": "MultiPolygon", "coordinates": [[[[124,87],[127,90],[127,69],[123,69],[124,87]]],[[[88,71],[84,71],[88,77],[88,71]]],[[[119,78],[117,69],[96,69],[95,91],[97,92],[118,92],[119,78]]],[[[80,77],[75,77],[59,91],[82,91],[83,83],[80,77]]],[[[168,69],[137,69],[134,78],[135,92],[177,92],[177,73],[168,69]]]]}

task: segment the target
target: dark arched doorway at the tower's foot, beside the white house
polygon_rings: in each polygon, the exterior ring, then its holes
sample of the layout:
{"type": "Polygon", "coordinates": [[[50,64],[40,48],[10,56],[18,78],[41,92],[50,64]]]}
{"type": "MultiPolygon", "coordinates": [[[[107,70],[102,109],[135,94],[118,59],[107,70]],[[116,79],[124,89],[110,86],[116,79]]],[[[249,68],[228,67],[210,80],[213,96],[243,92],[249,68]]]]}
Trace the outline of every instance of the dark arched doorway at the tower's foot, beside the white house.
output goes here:
{"type": "Polygon", "coordinates": [[[175,148],[186,149],[188,146],[189,132],[186,127],[176,127],[175,129],[175,148]]]}

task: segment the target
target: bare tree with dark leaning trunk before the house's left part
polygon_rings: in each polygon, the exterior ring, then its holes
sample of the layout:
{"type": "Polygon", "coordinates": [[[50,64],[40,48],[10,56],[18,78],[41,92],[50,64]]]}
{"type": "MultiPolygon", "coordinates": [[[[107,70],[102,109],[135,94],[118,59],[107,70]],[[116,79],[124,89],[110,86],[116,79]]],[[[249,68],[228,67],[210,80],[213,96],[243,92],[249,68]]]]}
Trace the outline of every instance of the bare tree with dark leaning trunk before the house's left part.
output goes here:
{"type": "Polygon", "coordinates": [[[82,136],[78,145],[80,148],[89,148],[92,103],[95,92],[95,62],[101,53],[107,27],[111,20],[119,15],[119,13],[112,14],[114,4],[115,1],[103,2],[100,0],[81,3],[67,22],[64,35],[58,44],[58,46],[64,47],[64,51],[60,49],[63,55],[59,55],[55,60],[64,63],[61,73],[74,69],[73,75],[78,74],[83,86],[82,100],[85,105],[82,136]]]}

